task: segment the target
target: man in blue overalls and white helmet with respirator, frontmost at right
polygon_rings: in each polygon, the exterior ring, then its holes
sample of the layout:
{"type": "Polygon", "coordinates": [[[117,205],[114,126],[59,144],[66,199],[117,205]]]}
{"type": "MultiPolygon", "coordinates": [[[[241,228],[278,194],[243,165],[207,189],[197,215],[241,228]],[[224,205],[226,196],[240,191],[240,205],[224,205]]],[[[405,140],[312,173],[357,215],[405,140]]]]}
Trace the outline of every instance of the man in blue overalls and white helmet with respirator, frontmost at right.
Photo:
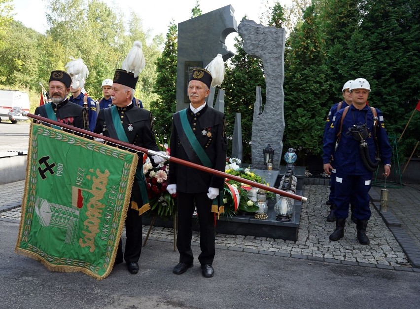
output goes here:
{"type": "Polygon", "coordinates": [[[369,82],[364,78],[357,78],[351,83],[349,90],[352,93],[353,102],[349,107],[336,113],[323,145],[325,173],[331,174],[334,168],[337,171],[336,229],[329,238],[336,241],[344,236],[350,199],[354,199],[357,240],[360,244],[366,245],[370,243],[366,235],[366,227],[371,216],[369,190],[372,172],[378,166],[379,155],[385,164],[384,175],[389,175],[392,148],[385,132],[381,111],[366,105],[370,92],[369,82]],[[380,154],[376,154],[375,143],[378,145],[380,154]],[[334,154],[334,161],[330,163],[332,154],[334,154]]]}

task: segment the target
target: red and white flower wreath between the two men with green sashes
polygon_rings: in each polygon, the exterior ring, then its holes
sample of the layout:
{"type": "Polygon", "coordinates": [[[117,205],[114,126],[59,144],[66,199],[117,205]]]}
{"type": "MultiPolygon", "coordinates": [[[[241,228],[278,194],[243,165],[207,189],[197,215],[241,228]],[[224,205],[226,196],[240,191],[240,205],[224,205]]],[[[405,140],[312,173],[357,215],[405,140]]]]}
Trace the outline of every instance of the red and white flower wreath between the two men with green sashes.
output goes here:
{"type": "MultiPolygon", "coordinates": [[[[160,151],[170,155],[168,144],[156,143],[160,151]]],[[[143,174],[146,177],[147,195],[149,197],[150,211],[161,218],[171,218],[176,210],[176,193],[169,194],[168,186],[169,161],[153,166],[150,158],[143,157],[143,174]]]]}

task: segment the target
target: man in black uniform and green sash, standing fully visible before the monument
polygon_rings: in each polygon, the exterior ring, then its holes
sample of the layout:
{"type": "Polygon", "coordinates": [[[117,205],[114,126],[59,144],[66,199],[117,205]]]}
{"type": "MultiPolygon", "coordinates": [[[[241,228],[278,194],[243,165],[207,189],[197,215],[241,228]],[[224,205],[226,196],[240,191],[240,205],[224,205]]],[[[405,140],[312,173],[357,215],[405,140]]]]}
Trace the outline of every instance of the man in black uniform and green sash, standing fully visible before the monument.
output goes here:
{"type": "MultiPolygon", "coordinates": [[[[171,135],[171,155],[183,160],[225,170],[226,165],[226,120],[225,115],[205,102],[209,96],[212,77],[209,71],[195,69],[188,83],[189,108],[174,114],[171,135]]],[[[197,207],[200,224],[200,248],[198,260],[204,277],[214,275],[214,216],[217,200],[223,189],[223,178],[185,165],[169,163],[169,193],[177,193],[178,237],[176,247],[179,263],[175,274],[184,273],[193,267],[191,249],[192,215],[197,207]],[[214,200],[214,201],[213,201],[214,200]],[[213,211],[213,212],[212,212],[213,211]]]]}

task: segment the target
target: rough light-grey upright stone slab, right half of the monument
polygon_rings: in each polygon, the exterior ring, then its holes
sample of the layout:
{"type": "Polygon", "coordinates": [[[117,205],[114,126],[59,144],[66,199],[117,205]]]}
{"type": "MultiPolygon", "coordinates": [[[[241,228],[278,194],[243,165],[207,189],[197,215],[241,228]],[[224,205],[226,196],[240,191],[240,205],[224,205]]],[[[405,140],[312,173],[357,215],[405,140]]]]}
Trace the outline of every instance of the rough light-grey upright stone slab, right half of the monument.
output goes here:
{"type": "Polygon", "coordinates": [[[265,27],[243,19],[239,34],[244,39],[245,52],[260,58],[264,66],[266,102],[262,105],[261,89],[257,87],[252,121],[252,165],[263,164],[263,149],[270,144],[275,150],[273,168],[280,167],[284,132],[284,29],[265,27]]]}

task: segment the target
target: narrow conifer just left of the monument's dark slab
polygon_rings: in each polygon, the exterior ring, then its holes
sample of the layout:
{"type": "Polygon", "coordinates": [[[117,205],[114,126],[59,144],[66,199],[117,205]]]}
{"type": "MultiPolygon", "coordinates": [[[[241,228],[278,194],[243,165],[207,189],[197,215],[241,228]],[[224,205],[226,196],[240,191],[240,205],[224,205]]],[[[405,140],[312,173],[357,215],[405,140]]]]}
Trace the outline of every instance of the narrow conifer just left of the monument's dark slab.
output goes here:
{"type": "Polygon", "coordinates": [[[172,20],[166,34],[165,48],[156,60],[156,82],[153,92],[158,98],[150,103],[156,134],[169,138],[172,130],[172,114],[176,110],[176,55],[177,26],[172,20]]]}

